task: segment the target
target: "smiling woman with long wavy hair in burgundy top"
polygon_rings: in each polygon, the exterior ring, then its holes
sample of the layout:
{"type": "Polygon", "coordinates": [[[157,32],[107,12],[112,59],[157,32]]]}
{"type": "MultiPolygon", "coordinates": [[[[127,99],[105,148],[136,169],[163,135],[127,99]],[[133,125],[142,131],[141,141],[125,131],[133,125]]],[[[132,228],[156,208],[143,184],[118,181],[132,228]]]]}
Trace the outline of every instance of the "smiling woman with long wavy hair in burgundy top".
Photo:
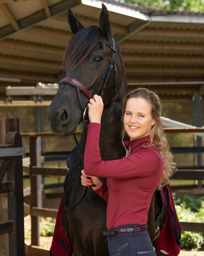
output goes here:
{"type": "Polygon", "coordinates": [[[95,184],[93,190],[107,201],[104,235],[109,254],[156,255],[146,224],[150,201],[157,188],[168,184],[175,167],[163,132],[160,100],[144,88],[127,94],[123,102],[124,132],[129,136],[123,141],[126,156],[112,161],[100,157],[101,97],[94,95],[88,108],[81,182],[83,186],[95,184]],[[107,185],[98,177],[107,178],[107,185]]]}

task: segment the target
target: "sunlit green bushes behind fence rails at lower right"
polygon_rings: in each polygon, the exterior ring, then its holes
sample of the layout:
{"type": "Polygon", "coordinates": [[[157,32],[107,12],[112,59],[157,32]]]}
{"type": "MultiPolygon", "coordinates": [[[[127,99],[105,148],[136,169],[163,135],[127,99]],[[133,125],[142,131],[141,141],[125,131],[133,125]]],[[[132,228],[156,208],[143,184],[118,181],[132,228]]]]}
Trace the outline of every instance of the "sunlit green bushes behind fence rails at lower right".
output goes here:
{"type": "MultiPolygon", "coordinates": [[[[203,222],[204,221],[204,197],[197,198],[189,195],[174,199],[175,209],[179,221],[183,222],[203,222]]],[[[181,248],[186,250],[204,249],[204,233],[184,231],[180,242],[181,248]]]]}

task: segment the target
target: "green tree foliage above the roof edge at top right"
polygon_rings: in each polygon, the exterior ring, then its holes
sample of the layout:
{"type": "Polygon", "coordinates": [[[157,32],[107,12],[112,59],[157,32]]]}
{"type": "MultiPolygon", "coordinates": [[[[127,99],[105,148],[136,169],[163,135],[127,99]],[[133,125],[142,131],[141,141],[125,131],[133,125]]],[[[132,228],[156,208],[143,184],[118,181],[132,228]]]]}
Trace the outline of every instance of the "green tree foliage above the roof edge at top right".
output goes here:
{"type": "Polygon", "coordinates": [[[124,2],[138,4],[140,7],[204,12],[204,0],[124,0],[124,2]]]}

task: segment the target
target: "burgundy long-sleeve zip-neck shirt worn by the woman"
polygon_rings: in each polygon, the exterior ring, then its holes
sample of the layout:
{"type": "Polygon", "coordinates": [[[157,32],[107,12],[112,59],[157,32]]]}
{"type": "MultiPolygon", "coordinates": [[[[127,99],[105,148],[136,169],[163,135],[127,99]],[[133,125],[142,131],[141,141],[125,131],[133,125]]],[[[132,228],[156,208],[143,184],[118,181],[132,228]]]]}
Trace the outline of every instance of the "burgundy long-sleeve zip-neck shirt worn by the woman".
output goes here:
{"type": "MultiPolygon", "coordinates": [[[[148,221],[152,194],[160,183],[163,159],[150,137],[124,140],[126,156],[101,161],[99,149],[100,124],[89,123],[84,152],[86,175],[105,177],[106,184],[95,190],[107,201],[106,227],[143,225],[148,221]]],[[[107,149],[108,150],[108,149],[107,149]]]]}

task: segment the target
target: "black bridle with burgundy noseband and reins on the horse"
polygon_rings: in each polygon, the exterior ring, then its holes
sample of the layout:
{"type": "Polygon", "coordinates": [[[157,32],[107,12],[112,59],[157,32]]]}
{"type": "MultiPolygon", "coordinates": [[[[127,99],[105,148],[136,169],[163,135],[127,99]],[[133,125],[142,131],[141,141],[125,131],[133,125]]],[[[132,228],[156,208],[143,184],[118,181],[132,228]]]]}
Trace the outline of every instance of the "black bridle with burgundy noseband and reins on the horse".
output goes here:
{"type": "MultiPolygon", "coordinates": [[[[107,84],[107,81],[109,80],[109,77],[110,77],[110,74],[111,74],[111,71],[112,71],[113,68],[114,68],[114,81],[115,81],[114,97],[115,97],[115,95],[117,93],[117,68],[116,68],[116,63],[115,63],[116,48],[115,48],[114,39],[112,39],[112,46],[108,42],[103,41],[103,40],[100,40],[99,43],[105,43],[105,45],[110,47],[111,50],[112,50],[112,55],[111,55],[111,58],[109,59],[109,63],[107,63],[107,67],[105,69],[104,74],[102,75],[102,77],[101,77],[99,83],[97,84],[97,86],[95,86],[95,88],[92,91],[92,93],[90,94],[90,92],[87,90],[87,88],[83,84],[81,84],[79,81],[77,81],[76,79],[71,78],[71,77],[65,77],[59,83],[59,86],[61,84],[67,84],[67,85],[74,86],[76,88],[77,95],[78,95],[78,100],[80,102],[80,108],[81,108],[81,118],[80,118],[80,122],[79,123],[81,123],[82,121],[88,122],[88,120],[85,119],[87,107],[83,109],[83,104],[82,104],[82,99],[81,99],[80,92],[82,92],[86,97],[88,97],[88,99],[92,99],[93,95],[95,94],[95,91],[97,91],[99,86],[101,84],[103,84],[103,81],[104,81],[103,87],[102,87],[101,92],[100,92],[100,96],[103,99],[104,91],[105,91],[105,88],[106,88],[106,84],[107,84]]],[[[112,100],[114,100],[114,97],[112,98],[112,100]]],[[[76,138],[75,134],[73,134],[73,138],[75,139],[75,143],[76,143],[78,152],[80,154],[82,164],[84,166],[83,157],[82,157],[82,154],[81,154],[81,151],[80,151],[80,146],[78,144],[78,141],[77,141],[77,138],[76,138]]],[[[81,170],[82,170],[83,166],[80,167],[81,170]]],[[[68,169],[68,172],[69,172],[69,169],[68,169]]],[[[77,206],[81,202],[81,200],[84,198],[84,196],[86,195],[87,188],[88,187],[84,187],[84,190],[83,190],[83,193],[82,193],[80,199],[77,201],[77,203],[73,204],[69,208],[66,207],[66,199],[67,199],[67,195],[68,195],[68,190],[67,190],[65,198],[64,198],[64,208],[66,210],[70,210],[70,209],[74,208],[75,206],[77,206]]],[[[90,188],[90,186],[89,186],[89,188],[90,188]]]]}

